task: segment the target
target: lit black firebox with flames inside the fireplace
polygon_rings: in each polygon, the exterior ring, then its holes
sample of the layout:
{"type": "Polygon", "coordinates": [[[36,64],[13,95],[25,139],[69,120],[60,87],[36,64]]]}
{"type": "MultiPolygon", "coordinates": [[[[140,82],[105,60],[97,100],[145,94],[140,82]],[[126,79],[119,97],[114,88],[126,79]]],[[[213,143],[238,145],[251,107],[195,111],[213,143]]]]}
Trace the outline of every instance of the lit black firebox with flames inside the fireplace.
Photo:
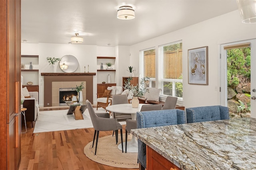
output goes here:
{"type": "Polygon", "coordinates": [[[72,101],[73,96],[77,96],[75,88],[60,88],[60,106],[66,106],[65,102],[72,101]]]}

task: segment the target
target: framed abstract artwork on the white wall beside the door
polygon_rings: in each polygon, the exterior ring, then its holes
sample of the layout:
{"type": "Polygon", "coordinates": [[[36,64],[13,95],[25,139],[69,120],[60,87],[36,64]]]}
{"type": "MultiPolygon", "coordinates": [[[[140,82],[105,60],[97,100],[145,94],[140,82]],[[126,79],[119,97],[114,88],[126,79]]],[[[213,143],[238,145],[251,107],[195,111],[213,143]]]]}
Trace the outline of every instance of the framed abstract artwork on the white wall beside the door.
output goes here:
{"type": "Polygon", "coordinates": [[[188,84],[208,85],[208,46],[188,50],[188,84]]]}

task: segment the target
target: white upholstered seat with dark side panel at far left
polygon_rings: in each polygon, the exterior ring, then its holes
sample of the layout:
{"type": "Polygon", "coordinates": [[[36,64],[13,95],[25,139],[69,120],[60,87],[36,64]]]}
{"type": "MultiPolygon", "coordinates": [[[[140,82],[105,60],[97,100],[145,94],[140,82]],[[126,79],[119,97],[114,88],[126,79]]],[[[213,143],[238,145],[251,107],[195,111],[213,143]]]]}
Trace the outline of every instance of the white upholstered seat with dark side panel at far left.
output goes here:
{"type": "MultiPolygon", "coordinates": [[[[38,105],[38,92],[28,92],[30,98],[22,98],[24,100],[23,107],[27,108],[26,110],[26,121],[31,121],[32,127],[39,114],[39,105],[38,105]]],[[[23,116],[23,115],[22,115],[23,116]]]]}

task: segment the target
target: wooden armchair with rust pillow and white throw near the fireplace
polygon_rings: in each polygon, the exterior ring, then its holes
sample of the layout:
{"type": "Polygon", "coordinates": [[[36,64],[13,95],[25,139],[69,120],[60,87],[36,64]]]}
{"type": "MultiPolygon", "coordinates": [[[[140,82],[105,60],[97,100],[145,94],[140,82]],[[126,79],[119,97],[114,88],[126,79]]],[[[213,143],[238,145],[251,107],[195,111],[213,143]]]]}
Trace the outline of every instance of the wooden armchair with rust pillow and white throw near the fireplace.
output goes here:
{"type": "Polygon", "coordinates": [[[112,95],[122,94],[121,86],[108,87],[103,94],[97,94],[97,110],[98,107],[106,109],[108,105],[112,104],[112,95]]]}

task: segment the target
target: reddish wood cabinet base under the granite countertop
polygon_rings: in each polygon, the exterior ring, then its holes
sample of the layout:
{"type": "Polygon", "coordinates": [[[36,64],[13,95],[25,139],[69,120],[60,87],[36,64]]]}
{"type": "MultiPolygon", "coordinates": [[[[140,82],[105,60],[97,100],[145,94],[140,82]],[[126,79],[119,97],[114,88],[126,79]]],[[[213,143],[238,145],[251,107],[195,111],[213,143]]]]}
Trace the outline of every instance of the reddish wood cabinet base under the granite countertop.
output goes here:
{"type": "Polygon", "coordinates": [[[147,150],[147,170],[181,170],[150,147],[147,150]]]}

